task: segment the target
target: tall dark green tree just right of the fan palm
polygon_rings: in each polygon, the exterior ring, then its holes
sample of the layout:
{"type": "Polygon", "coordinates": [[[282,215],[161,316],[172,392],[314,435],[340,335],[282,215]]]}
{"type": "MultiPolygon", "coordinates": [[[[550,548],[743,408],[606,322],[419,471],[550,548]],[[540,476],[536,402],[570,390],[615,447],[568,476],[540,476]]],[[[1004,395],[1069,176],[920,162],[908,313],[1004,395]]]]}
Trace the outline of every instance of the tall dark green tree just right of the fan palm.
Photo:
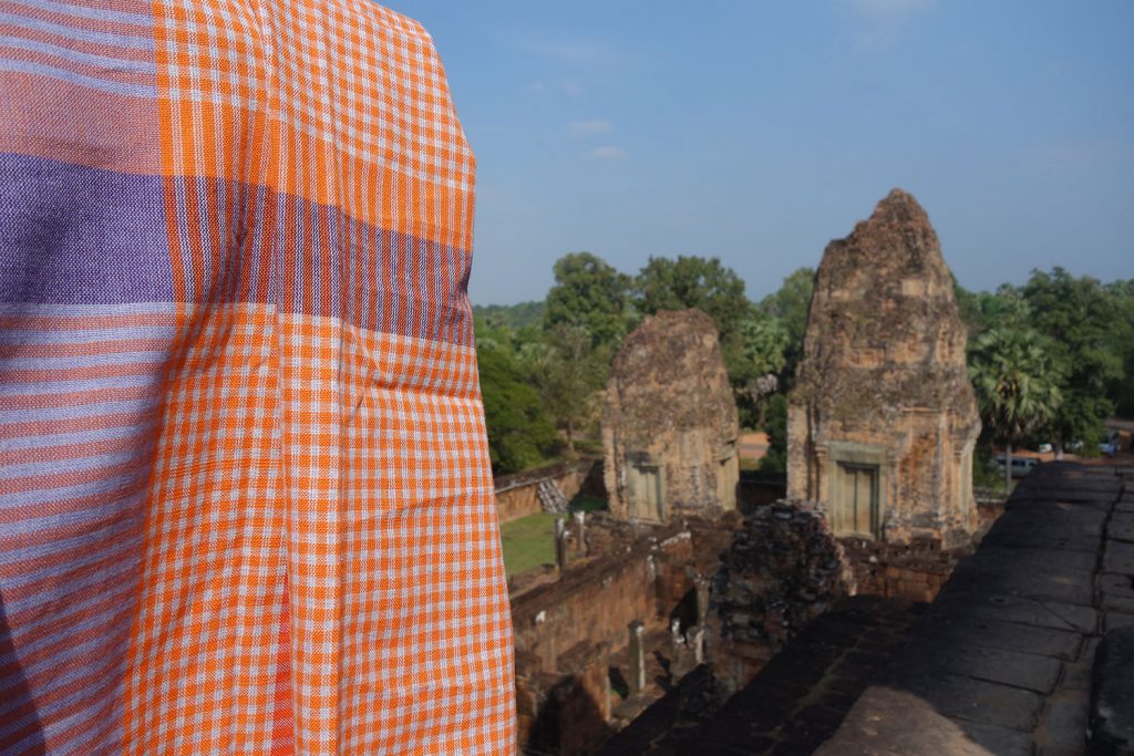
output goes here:
{"type": "Polygon", "coordinates": [[[1114,345],[1115,301],[1095,279],[1075,278],[1061,267],[1033,271],[1021,296],[1030,325],[1049,339],[1049,357],[1061,373],[1063,402],[1044,431],[1060,455],[1073,440],[1093,449],[1115,409],[1108,389],[1124,372],[1114,345]]]}

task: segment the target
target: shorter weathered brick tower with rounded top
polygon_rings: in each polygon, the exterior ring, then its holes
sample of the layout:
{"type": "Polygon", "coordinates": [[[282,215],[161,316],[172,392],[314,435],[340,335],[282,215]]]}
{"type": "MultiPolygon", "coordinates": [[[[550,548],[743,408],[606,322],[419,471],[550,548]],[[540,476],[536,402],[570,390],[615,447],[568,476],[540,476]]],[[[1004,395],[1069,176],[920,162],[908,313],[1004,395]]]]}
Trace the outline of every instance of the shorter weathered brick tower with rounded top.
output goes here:
{"type": "Polygon", "coordinates": [[[626,337],[607,383],[602,445],[610,511],[665,523],[736,508],[736,401],[717,325],[661,312],[626,337]]]}

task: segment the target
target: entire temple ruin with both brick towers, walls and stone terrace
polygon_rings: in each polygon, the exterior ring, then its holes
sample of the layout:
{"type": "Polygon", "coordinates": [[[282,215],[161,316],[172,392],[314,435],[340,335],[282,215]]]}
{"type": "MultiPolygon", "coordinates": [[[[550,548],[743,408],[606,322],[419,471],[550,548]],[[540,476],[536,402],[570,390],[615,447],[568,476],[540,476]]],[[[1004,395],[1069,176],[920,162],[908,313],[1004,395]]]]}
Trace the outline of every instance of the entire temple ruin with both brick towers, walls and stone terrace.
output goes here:
{"type": "Polygon", "coordinates": [[[772,501],[738,479],[712,321],[646,318],[608,384],[601,476],[501,489],[513,512],[601,477],[611,510],[561,521],[556,566],[509,584],[524,753],[1134,742],[1107,703],[1129,688],[1134,470],[1044,465],[978,529],[964,352],[937,237],[895,190],[826,250],[772,501]]]}

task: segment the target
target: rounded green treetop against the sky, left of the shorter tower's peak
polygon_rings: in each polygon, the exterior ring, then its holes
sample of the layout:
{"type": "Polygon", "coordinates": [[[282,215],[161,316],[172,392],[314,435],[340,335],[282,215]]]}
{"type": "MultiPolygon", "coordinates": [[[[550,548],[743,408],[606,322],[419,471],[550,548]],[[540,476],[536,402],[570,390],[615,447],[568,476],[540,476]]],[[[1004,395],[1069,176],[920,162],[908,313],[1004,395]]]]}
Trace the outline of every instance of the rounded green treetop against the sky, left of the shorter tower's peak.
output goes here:
{"type": "Polygon", "coordinates": [[[553,270],[556,283],[548,291],[543,330],[582,328],[592,347],[620,342],[632,316],[629,277],[589,252],[564,255],[553,270]]]}

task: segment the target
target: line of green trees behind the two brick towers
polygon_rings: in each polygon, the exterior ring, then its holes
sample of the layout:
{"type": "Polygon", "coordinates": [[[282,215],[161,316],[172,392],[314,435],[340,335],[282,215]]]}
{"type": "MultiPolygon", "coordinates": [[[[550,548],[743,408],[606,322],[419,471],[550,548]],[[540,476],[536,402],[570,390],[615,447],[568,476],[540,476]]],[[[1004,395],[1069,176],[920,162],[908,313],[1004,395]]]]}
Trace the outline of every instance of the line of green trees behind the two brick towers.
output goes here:
{"type": "MultiPolygon", "coordinates": [[[[803,355],[812,269],[795,271],[760,301],[716,257],[651,257],[629,275],[582,252],[560,257],[553,272],[542,301],[474,307],[496,472],[526,469],[578,447],[598,451],[596,398],[621,339],[645,315],[687,307],[717,323],[742,424],[771,436],[763,467],[784,468],[786,394],[803,355]]],[[[971,372],[991,365],[990,354],[1004,343],[1017,348],[1023,340],[1043,355],[1058,408],[1016,424],[1014,438],[1083,440],[1090,451],[1108,416],[1134,415],[1134,280],[1103,284],[1056,267],[993,292],[957,286],[956,296],[971,372]]],[[[995,411],[987,405],[982,413],[995,411]]],[[[1002,423],[984,421],[990,441],[1002,423]]]]}

